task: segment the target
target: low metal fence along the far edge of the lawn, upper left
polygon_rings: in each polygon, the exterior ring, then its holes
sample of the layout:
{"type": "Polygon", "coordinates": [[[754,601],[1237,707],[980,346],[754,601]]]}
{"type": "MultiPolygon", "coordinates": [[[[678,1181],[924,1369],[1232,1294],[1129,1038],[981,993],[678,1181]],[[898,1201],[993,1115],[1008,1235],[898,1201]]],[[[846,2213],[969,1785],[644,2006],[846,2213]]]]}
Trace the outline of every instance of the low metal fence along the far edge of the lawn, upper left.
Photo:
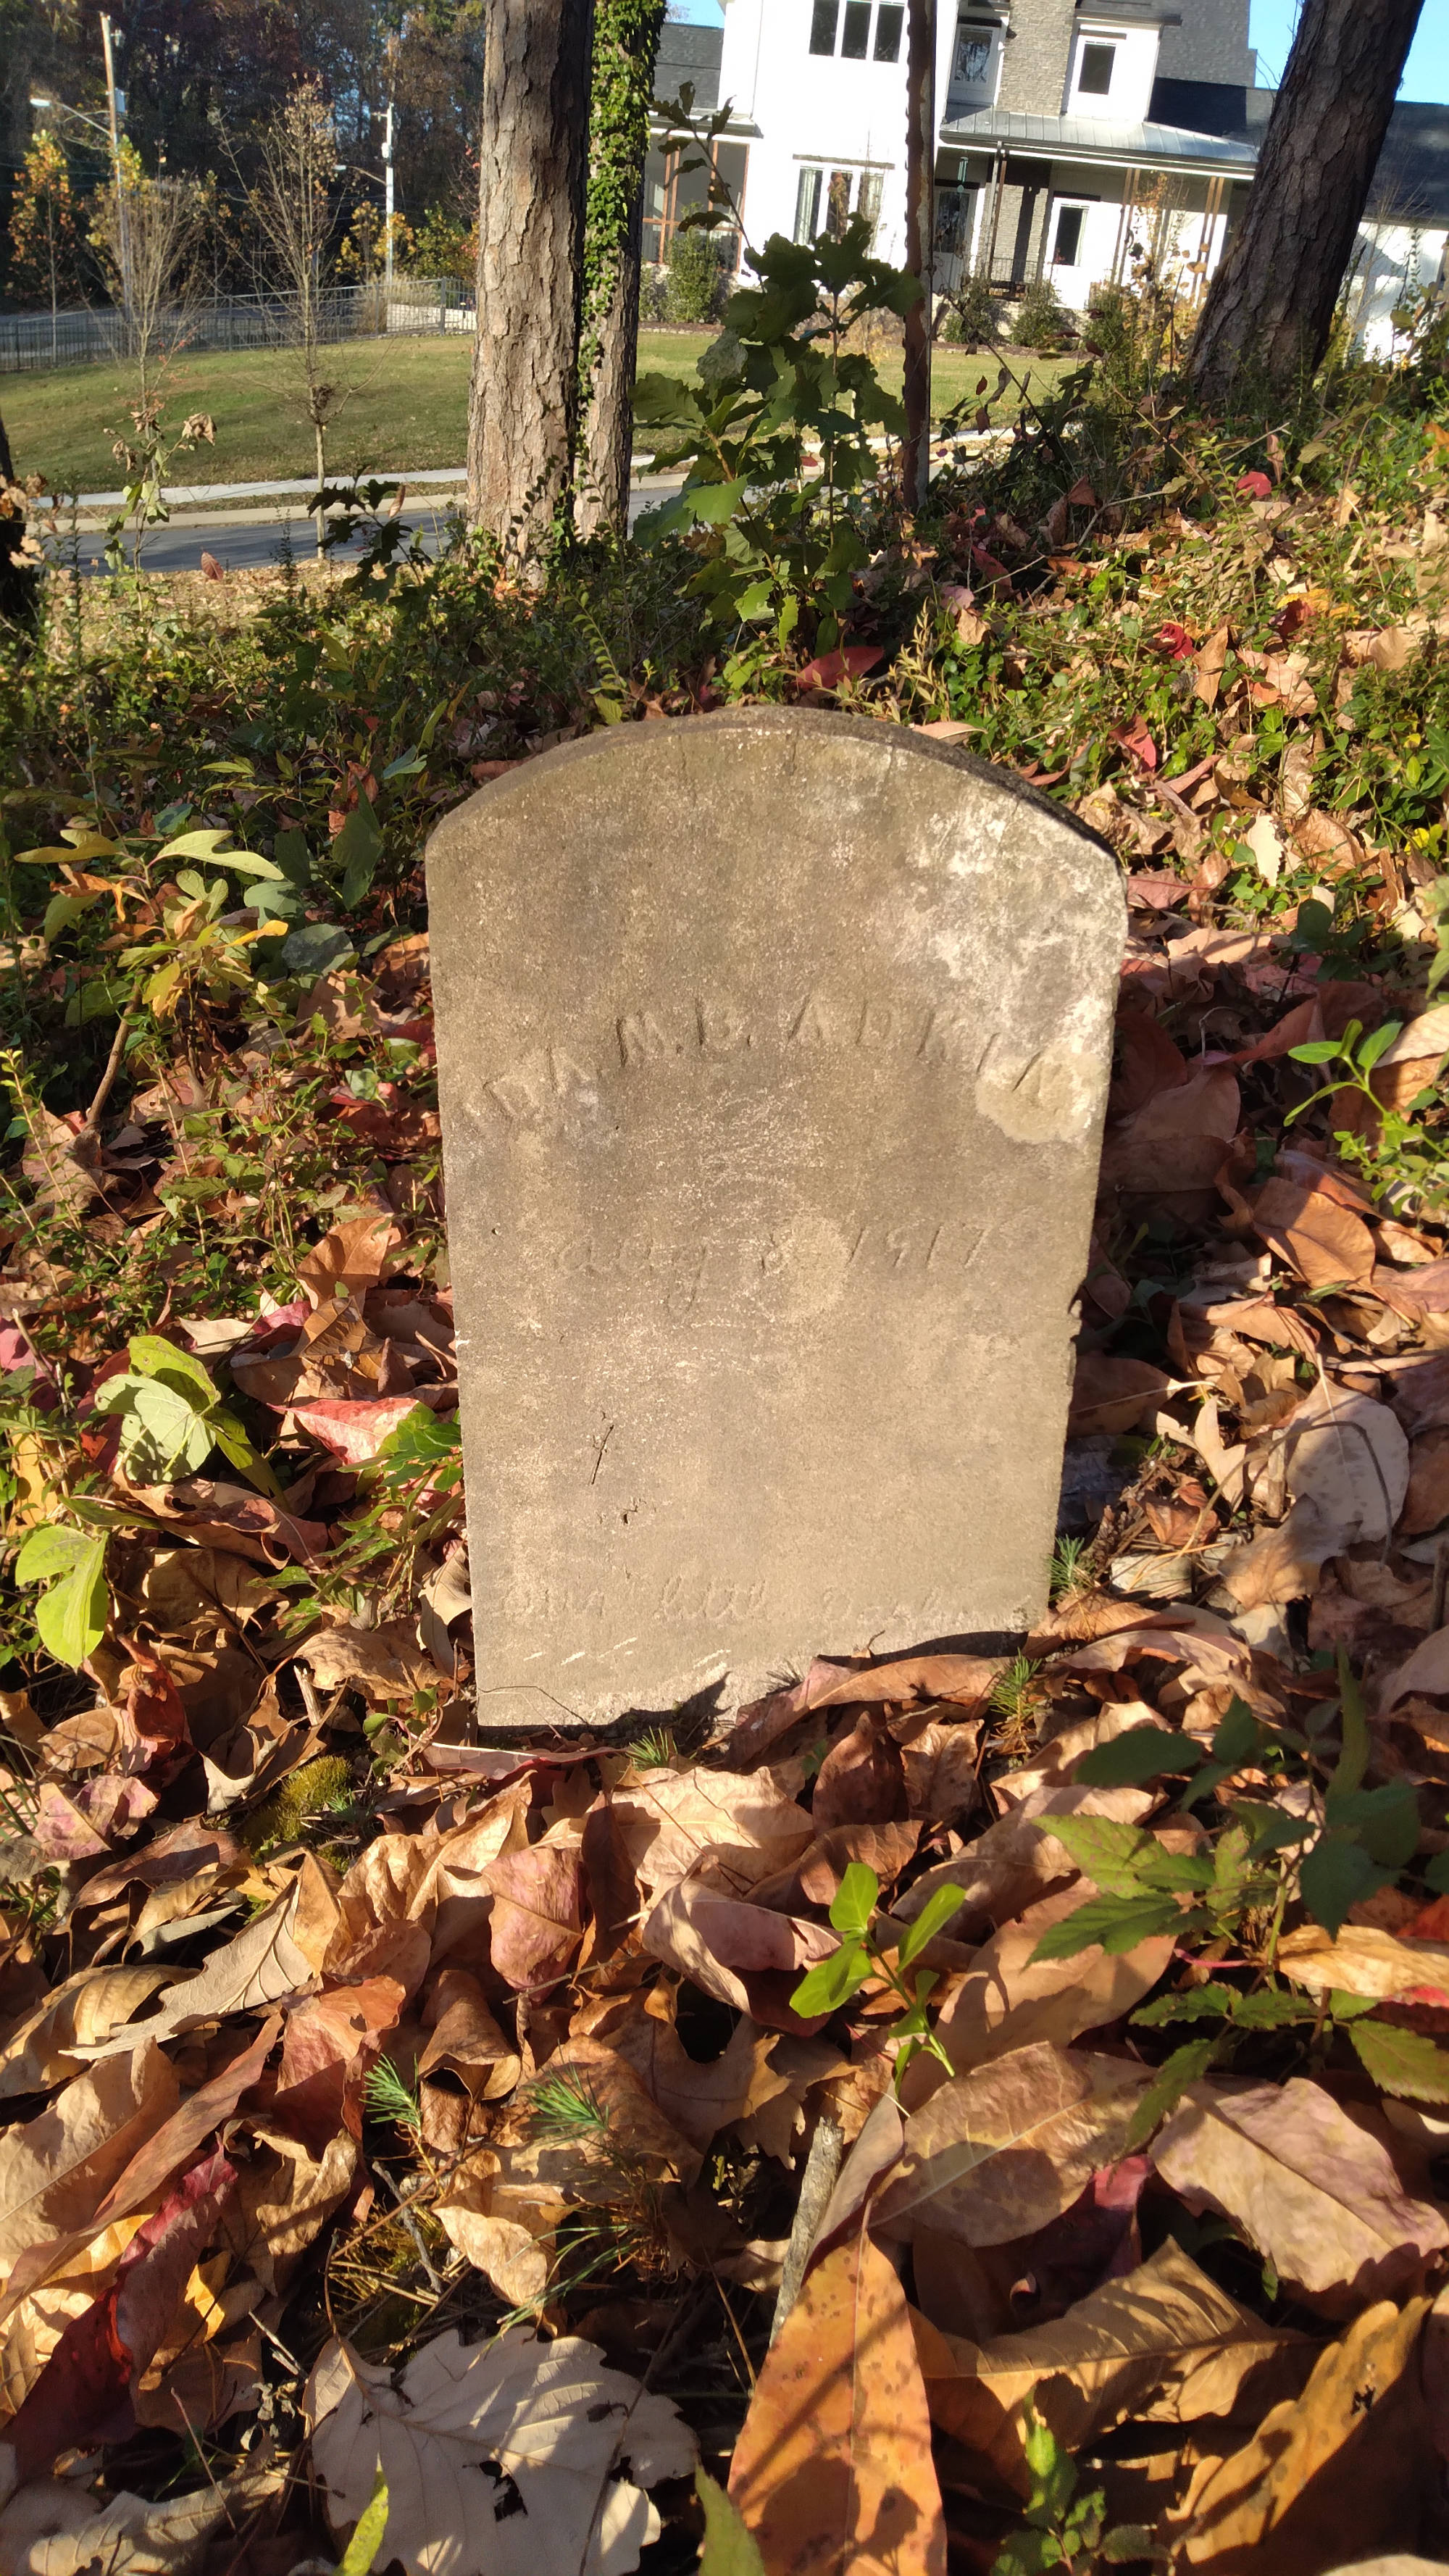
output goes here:
{"type": "MultiPolygon", "coordinates": [[[[391,296],[373,286],[329,286],[322,296],[322,340],[376,340],[471,332],[474,299],[458,278],[394,278],[391,296]]],[[[296,296],[211,296],[167,312],[157,348],[296,348],[296,296]]],[[[131,327],[113,304],[57,314],[0,314],[0,376],[51,366],[98,366],[129,355],[131,327]]]]}

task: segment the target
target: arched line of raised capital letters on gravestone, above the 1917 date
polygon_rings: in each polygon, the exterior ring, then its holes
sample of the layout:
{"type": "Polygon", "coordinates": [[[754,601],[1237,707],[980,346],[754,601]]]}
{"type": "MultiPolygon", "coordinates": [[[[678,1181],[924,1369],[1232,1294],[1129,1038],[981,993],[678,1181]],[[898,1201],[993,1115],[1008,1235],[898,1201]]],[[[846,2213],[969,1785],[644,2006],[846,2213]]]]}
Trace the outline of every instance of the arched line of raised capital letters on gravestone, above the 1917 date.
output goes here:
{"type": "Polygon", "coordinates": [[[607,1038],[584,1054],[577,1043],[535,1046],[484,1084],[484,1095],[515,1126],[558,1118],[597,1100],[605,1077],[664,1072],[687,1061],[749,1061],[762,1054],[808,1059],[816,1054],[891,1054],[916,1064],[957,1064],[981,1072],[991,1033],[960,1005],[906,1005],[839,999],[808,992],[785,1010],[741,1010],[718,994],[687,1005],[641,1005],[615,1018],[607,1038]]]}

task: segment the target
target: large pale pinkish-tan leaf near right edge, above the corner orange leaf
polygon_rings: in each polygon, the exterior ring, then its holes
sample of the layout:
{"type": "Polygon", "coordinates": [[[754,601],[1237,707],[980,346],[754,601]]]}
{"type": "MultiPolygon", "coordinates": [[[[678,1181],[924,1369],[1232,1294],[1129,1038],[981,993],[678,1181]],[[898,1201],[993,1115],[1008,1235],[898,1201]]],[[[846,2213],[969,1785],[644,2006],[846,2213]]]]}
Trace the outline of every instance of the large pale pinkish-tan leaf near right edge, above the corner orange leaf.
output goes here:
{"type": "Polygon", "coordinates": [[[1413,2200],[1377,2138],[1320,2084],[1194,2084],[1153,2164],[1189,2210],[1217,2210],[1325,2316],[1416,2293],[1449,2226],[1413,2200]]]}

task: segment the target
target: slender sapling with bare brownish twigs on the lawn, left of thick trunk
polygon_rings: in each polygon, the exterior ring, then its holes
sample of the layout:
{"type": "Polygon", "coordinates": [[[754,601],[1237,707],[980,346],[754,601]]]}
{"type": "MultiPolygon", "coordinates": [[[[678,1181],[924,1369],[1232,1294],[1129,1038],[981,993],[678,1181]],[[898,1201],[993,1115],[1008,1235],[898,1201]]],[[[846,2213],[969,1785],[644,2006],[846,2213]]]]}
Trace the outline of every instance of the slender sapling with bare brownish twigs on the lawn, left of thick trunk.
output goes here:
{"type": "MultiPolygon", "coordinates": [[[[301,404],[317,448],[317,489],[327,482],[327,430],[350,386],[337,381],[337,350],[327,345],[327,283],[332,276],[332,175],[337,131],[322,82],[301,80],[260,142],[263,175],[252,204],[257,232],[291,299],[301,376],[301,404]]],[[[322,510],[317,551],[322,554],[322,510]]]]}

